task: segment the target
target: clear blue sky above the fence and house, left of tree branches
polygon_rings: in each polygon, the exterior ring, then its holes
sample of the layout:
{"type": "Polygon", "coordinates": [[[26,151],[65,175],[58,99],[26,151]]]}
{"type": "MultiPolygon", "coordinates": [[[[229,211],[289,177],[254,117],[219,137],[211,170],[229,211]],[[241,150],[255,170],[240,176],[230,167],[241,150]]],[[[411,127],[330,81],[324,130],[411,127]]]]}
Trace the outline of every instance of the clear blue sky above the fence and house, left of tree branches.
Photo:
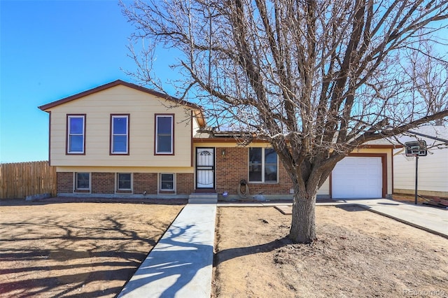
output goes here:
{"type": "MultiPolygon", "coordinates": [[[[48,159],[48,114],[37,107],[116,79],[133,29],[118,0],[0,0],[0,162],[48,159]]],[[[162,59],[163,60],[163,59],[162,59]]],[[[167,64],[158,76],[172,76],[167,64]]]]}

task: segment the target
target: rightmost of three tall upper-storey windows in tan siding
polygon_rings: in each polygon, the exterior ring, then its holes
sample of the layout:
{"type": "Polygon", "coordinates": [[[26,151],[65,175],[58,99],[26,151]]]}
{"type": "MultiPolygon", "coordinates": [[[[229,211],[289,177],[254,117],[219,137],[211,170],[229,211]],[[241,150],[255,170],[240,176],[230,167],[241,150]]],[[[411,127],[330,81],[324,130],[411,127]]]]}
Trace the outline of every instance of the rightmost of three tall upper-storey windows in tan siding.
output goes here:
{"type": "Polygon", "coordinates": [[[155,115],[155,154],[174,155],[174,114],[155,115]]]}

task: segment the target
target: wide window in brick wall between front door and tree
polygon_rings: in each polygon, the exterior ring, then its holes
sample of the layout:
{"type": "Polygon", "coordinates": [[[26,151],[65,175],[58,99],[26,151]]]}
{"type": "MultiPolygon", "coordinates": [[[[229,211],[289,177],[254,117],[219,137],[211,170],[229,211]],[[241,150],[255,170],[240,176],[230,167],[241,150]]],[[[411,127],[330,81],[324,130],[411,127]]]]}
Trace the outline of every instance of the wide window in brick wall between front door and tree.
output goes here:
{"type": "Polygon", "coordinates": [[[272,148],[249,148],[249,182],[278,182],[277,160],[272,148]]]}

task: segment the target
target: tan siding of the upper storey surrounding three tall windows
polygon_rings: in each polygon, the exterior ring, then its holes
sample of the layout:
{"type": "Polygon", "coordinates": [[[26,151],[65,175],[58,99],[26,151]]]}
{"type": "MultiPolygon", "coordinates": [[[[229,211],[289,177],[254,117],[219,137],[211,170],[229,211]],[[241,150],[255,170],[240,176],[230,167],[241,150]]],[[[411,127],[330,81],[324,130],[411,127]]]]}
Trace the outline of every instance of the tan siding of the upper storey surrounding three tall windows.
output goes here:
{"type": "Polygon", "coordinates": [[[51,108],[55,166],[190,166],[190,112],[123,85],[51,108]],[[85,155],[66,155],[66,115],[86,114],[85,155]],[[130,114],[130,155],[109,155],[111,114],[130,114]],[[175,155],[154,155],[154,114],[174,113],[175,155]],[[188,122],[185,120],[188,119],[188,122]]]}

